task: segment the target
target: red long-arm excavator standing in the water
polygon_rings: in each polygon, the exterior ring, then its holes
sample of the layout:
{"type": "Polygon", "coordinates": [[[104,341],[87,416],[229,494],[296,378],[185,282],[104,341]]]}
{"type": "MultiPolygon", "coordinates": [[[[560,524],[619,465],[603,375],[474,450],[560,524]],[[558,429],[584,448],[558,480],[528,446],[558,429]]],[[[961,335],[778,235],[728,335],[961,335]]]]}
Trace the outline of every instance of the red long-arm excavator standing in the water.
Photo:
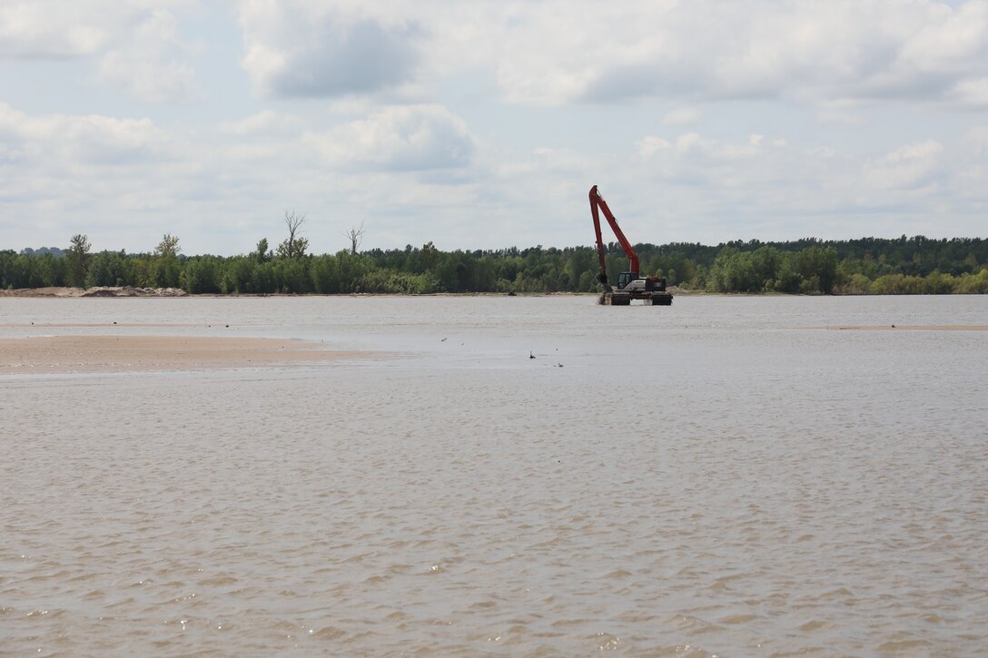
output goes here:
{"type": "Polygon", "coordinates": [[[590,188],[590,213],[594,216],[594,231],[597,234],[597,258],[601,264],[601,273],[597,275],[597,281],[604,287],[604,294],[601,295],[601,303],[609,306],[628,306],[631,299],[642,299],[646,305],[670,306],[673,303],[672,293],[666,291],[666,280],[663,277],[639,277],[638,276],[638,255],[631,248],[631,243],[624,237],[620,226],[617,225],[614,213],[604,201],[604,197],[598,192],[597,186],[590,188]],[[604,240],[601,238],[601,216],[603,212],[611,229],[617,235],[617,241],[629,261],[628,270],[617,276],[617,288],[608,283],[608,268],[604,255],[604,240]]]}

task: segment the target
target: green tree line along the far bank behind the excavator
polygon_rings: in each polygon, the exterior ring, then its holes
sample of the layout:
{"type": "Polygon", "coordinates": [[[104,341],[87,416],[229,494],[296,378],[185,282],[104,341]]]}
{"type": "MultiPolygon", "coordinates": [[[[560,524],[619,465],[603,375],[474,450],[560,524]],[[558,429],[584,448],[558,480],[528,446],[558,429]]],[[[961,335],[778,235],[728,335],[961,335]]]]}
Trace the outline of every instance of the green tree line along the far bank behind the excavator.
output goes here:
{"type": "MultiPolygon", "coordinates": [[[[597,292],[593,247],[511,247],[441,251],[422,247],[358,251],[363,225],[345,235],[351,248],[314,255],[298,237],[303,215],[286,213],[288,239],[267,239],[238,256],[186,256],[165,234],[148,253],[93,252],[72,236],[65,249],[0,251],[0,288],[131,286],[190,293],[597,292]]],[[[988,240],[885,239],[733,241],[634,245],[641,275],[712,292],[806,294],[988,293],[988,240]]],[[[627,268],[617,243],[607,246],[610,281],[627,268]]]]}

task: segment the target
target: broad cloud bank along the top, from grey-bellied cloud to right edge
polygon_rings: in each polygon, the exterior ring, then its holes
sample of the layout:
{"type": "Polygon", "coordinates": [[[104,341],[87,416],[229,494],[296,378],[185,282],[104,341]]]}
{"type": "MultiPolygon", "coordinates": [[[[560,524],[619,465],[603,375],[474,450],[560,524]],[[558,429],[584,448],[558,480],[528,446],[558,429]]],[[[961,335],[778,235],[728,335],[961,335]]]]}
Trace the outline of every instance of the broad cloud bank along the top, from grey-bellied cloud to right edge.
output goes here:
{"type": "Polygon", "coordinates": [[[693,103],[718,99],[965,103],[950,89],[988,75],[988,0],[245,0],[240,16],[243,66],[275,97],[483,71],[511,104],[662,99],[686,104],[664,123],[685,124],[693,103]]]}

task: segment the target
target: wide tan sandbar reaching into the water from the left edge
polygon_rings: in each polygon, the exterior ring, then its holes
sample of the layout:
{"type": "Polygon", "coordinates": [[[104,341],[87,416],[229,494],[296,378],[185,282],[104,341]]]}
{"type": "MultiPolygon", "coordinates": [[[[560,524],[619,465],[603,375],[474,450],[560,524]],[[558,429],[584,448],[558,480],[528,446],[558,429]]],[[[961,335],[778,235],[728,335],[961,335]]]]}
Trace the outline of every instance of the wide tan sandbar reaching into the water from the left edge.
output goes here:
{"type": "Polygon", "coordinates": [[[354,357],[269,338],[43,336],[0,339],[0,373],[259,368],[354,357]]]}

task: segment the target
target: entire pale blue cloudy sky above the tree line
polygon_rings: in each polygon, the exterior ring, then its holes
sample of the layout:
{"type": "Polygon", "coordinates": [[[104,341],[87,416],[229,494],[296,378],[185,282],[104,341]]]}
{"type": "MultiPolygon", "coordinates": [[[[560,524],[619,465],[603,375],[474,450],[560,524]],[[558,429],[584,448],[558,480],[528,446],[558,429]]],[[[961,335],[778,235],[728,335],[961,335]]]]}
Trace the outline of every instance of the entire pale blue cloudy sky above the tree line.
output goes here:
{"type": "Polygon", "coordinates": [[[986,111],[988,0],[0,0],[0,249],[986,237],[986,111]]]}

